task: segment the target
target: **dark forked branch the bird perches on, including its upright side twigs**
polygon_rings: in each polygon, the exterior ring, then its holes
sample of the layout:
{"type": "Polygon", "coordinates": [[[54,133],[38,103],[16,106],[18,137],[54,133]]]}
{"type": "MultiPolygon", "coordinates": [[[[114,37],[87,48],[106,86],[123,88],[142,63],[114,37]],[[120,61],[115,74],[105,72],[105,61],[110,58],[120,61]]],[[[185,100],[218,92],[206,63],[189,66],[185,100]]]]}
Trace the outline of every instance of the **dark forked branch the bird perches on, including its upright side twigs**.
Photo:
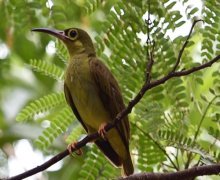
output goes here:
{"type": "MultiPolygon", "coordinates": [[[[198,20],[198,21],[200,21],[200,20],[198,20]]],[[[204,64],[202,64],[200,66],[196,66],[196,67],[193,67],[193,68],[188,69],[188,70],[176,71],[176,68],[177,68],[177,66],[179,65],[179,62],[180,62],[181,55],[182,55],[182,53],[183,53],[183,51],[184,51],[184,49],[185,49],[185,47],[186,47],[186,45],[188,43],[187,41],[188,41],[188,39],[189,39],[189,37],[190,37],[190,35],[192,33],[192,30],[193,30],[196,22],[198,22],[198,21],[194,21],[194,23],[193,23],[193,25],[191,27],[189,36],[188,36],[186,42],[184,43],[184,45],[183,45],[183,47],[181,49],[182,52],[179,53],[179,57],[177,59],[177,62],[175,64],[174,68],[171,70],[171,72],[168,73],[166,76],[162,77],[161,79],[158,79],[158,80],[155,80],[155,81],[151,82],[150,81],[150,79],[151,79],[151,70],[152,70],[152,66],[153,66],[153,63],[154,63],[154,60],[153,60],[154,45],[153,45],[153,50],[152,50],[152,52],[150,54],[150,57],[149,57],[150,59],[149,59],[148,64],[147,64],[147,69],[146,69],[147,75],[146,75],[146,81],[145,81],[144,85],[142,86],[142,88],[139,91],[139,93],[135,96],[135,98],[129,102],[128,106],[125,109],[123,109],[120,113],[117,114],[116,118],[114,119],[114,122],[113,123],[109,123],[109,124],[107,124],[107,126],[105,126],[105,131],[106,132],[109,131],[111,128],[113,128],[117,123],[119,123],[126,115],[128,115],[132,111],[133,107],[141,100],[141,98],[144,96],[144,94],[148,90],[150,90],[150,89],[152,89],[152,88],[154,88],[156,86],[159,86],[159,85],[165,83],[166,81],[168,81],[171,78],[186,76],[186,75],[192,74],[192,73],[194,73],[196,71],[205,69],[205,68],[211,66],[213,63],[215,63],[218,60],[220,60],[220,55],[218,55],[214,59],[212,59],[211,61],[209,61],[207,63],[204,63],[204,64]]],[[[90,135],[87,135],[84,139],[82,139],[81,141],[76,143],[75,148],[71,148],[72,152],[82,148],[88,142],[94,141],[94,140],[98,139],[99,137],[100,136],[99,136],[98,132],[90,134],[90,135]]],[[[66,149],[65,151],[57,154],[56,156],[54,156],[50,160],[46,161],[42,165],[37,166],[37,167],[35,167],[35,168],[31,169],[31,170],[28,170],[28,171],[26,171],[24,173],[21,173],[21,174],[19,174],[17,176],[8,178],[8,180],[24,179],[24,178],[29,177],[31,175],[34,175],[34,174],[36,174],[38,172],[44,171],[45,169],[47,169],[48,167],[50,167],[53,164],[57,163],[58,161],[60,161],[64,157],[66,157],[67,155],[69,155],[69,151],[66,149]]],[[[213,166],[213,169],[212,168],[210,169],[210,172],[213,172],[213,171],[214,171],[214,173],[220,172],[219,166],[218,166],[217,170],[214,167],[215,166],[213,166]]],[[[194,169],[195,169],[194,171],[197,173],[198,172],[197,169],[196,168],[194,168],[194,169]]],[[[190,170],[188,170],[188,171],[190,171],[190,170]]],[[[194,171],[192,170],[192,172],[194,172],[194,171]]],[[[209,172],[207,172],[207,173],[209,173],[209,172]]],[[[144,173],[144,174],[146,174],[146,173],[144,173]]],[[[148,175],[149,174],[147,174],[147,176],[148,175]]],[[[135,176],[135,175],[133,175],[133,176],[135,176]]]]}

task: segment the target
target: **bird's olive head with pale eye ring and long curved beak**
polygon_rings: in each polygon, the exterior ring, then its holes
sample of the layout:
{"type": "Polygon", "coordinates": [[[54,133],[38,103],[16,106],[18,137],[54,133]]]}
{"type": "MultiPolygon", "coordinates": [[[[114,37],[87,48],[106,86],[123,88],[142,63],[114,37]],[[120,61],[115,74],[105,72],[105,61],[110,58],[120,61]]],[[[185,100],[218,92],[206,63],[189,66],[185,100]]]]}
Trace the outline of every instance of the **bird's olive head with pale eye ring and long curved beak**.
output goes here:
{"type": "Polygon", "coordinates": [[[92,40],[87,32],[79,28],[69,28],[63,31],[48,28],[34,28],[31,31],[43,32],[60,39],[67,47],[70,57],[79,53],[95,54],[92,40]]]}

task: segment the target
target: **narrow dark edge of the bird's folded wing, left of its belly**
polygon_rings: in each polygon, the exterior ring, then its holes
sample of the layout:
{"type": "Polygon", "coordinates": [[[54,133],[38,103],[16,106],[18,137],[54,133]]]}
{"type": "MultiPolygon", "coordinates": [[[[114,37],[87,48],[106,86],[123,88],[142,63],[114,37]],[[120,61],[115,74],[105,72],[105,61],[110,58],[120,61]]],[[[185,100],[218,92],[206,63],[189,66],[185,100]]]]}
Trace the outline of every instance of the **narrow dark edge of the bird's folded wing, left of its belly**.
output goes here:
{"type": "Polygon", "coordinates": [[[88,132],[88,129],[86,127],[86,125],[84,124],[82,118],[79,115],[79,112],[76,109],[76,106],[73,102],[73,99],[71,97],[71,93],[69,91],[69,88],[67,87],[67,85],[64,83],[64,94],[65,94],[65,98],[67,103],[69,104],[69,106],[71,107],[73,113],[75,114],[76,118],[80,121],[80,123],[82,124],[82,126],[84,127],[84,129],[86,130],[86,132],[88,132]]]}

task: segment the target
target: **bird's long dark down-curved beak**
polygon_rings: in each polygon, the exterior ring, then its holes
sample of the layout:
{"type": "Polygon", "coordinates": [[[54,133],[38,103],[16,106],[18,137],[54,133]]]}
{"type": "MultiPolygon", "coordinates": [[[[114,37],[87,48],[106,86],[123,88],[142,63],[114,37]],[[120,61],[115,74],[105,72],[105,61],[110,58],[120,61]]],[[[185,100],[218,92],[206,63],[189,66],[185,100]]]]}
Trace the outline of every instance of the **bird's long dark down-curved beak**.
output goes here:
{"type": "Polygon", "coordinates": [[[56,30],[56,29],[49,29],[49,28],[33,28],[31,29],[31,31],[37,31],[37,32],[43,32],[43,33],[47,33],[50,34],[52,36],[57,37],[58,39],[65,41],[67,39],[69,39],[64,31],[60,31],[60,30],[56,30]]]}

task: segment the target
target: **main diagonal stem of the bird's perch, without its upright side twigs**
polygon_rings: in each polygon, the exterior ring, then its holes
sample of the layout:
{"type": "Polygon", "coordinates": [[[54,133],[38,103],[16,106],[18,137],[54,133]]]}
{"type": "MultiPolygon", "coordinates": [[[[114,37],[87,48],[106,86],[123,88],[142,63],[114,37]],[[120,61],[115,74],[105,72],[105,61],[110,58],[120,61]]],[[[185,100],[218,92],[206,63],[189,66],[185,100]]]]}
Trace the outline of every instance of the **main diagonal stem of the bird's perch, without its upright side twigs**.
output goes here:
{"type": "MultiPolygon", "coordinates": [[[[189,74],[192,74],[196,71],[205,69],[209,66],[211,66],[213,63],[217,62],[218,60],[220,60],[220,55],[216,56],[214,59],[212,59],[211,61],[202,64],[200,66],[196,66],[193,67],[191,69],[188,70],[184,70],[184,71],[179,71],[179,72],[173,72],[173,73],[169,73],[167,76],[164,76],[163,78],[153,81],[153,82],[149,82],[149,83],[145,83],[141,90],[139,91],[139,93],[137,94],[137,96],[129,102],[127,108],[125,108],[123,111],[121,111],[115,118],[115,123],[114,124],[108,124],[105,127],[105,130],[108,131],[111,128],[113,128],[115,126],[116,123],[120,122],[126,115],[128,115],[131,110],[133,109],[133,107],[141,100],[141,98],[143,97],[143,95],[146,93],[146,91],[148,91],[149,89],[152,89],[155,86],[159,86],[160,84],[165,83],[167,80],[174,78],[174,77],[181,77],[181,76],[186,76],[189,74]]],[[[77,142],[75,148],[72,148],[72,152],[76,151],[79,148],[82,148],[83,146],[85,146],[88,142],[94,141],[95,139],[99,138],[99,134],[96,132],[94,134],[88,135],[86,136],[84,139],[82,139],[81,141],[77,142]]],[[[69,155],[68,150],[65,150],[61,153],[59,153],[58,155],[56,155],[55,157],[51,158],[49,161],[45,162],[44,164],[37,166],[29,171],[26,171],[20,175],[14,176],[9,178],[10,180],[15,180],[15,179],[23,179],[26,177],[29,177],[33,174],[36,174],[38,172],[44,171],[45,169],[47,169],[48,167],[52,166],[53,164],[57,163],[58,161],[60,161],[61,159],[63,159],[64,157],[66,157],[67,155],[69,155]]],[[[220,172],[220,169],[219,171],[220,172]]]]}

